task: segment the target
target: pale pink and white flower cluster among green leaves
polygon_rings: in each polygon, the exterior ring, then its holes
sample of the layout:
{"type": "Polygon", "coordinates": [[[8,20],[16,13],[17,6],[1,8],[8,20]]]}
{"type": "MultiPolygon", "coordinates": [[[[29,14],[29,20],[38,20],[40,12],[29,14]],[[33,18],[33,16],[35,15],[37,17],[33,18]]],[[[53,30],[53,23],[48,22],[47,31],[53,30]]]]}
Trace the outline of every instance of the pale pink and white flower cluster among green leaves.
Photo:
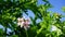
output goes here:
{"type": "Polygon", "coordinates": [[[29,27],[30,20],[29,18],[24,18],[24,17],[18,17],[17,18],[17,25],[21,27],[24,27],[27,29],[29,27]]]}

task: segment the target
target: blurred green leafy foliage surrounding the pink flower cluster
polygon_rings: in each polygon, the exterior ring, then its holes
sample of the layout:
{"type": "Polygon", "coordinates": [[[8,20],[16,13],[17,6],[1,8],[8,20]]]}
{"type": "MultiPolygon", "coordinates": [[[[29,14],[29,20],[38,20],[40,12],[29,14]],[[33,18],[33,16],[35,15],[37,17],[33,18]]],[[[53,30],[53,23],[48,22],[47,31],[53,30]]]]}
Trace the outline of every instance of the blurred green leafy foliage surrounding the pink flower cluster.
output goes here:
{"type": "Polygon", "coordinates": [[[65,37],[65,22],[60,20],[63,16],[47,11],[52,8],[48,0],[42,0],[46,3],[40,5],[37,5],[37,1],[0,0],[0,24],[4,27],[4,30],[0,29],[0,37],[65,37]],[[27,14],[27,10],[32,11],[35,18],[30,17],[32,24],[25,30],[17,26],[17,17],[23,16],[23,13],[27,14]],[[36,23],[37,18],[41,22],[36,23]],[[56,26],[57,30],[51,32],[51,25],[56,26]],[[11,29],[9,34],[6,28],[11,29]]]}

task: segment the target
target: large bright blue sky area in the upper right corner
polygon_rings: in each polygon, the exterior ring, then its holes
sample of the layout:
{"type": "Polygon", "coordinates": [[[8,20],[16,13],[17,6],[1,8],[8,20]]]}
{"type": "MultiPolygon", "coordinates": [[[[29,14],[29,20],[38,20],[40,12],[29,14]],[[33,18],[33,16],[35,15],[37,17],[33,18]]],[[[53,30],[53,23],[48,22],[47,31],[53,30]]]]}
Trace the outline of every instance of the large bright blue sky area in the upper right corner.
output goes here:
{"type": "MultiPolygon", "coordinates": [[[[49,11],[57,12],[65,15],[65,13],[62,11],[62,7],[65,7],[65,0],[49,0],[49,1],[54,7],[49,11]]],[[[65,17],[62,17],[61,21],[65,21],[65,17]]]]}

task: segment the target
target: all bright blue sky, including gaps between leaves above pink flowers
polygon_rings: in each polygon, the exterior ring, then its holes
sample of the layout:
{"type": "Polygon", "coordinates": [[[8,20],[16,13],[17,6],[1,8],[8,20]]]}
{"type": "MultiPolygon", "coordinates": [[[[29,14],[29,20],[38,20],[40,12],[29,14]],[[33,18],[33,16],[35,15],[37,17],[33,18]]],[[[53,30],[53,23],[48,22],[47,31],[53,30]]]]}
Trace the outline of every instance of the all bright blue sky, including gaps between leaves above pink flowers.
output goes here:
{"type": "MultiPolygon", "coordinates": [[[[62,11],[62,7],[65,7],[65,0],[49,0],[49,2],[53,5],[53,8],[49,9],[49,11],[65,15],[65,13],[62,11]]],[[[38,0],[38,4],[44,4],[44,2],[42,0],[38,0]]],[[[28,15],[35,17],[34,13],[30,10],[28,10],[28,15]]],[[[24,16],[27,17],[25,13],[24,16]]],[[[65,17],[62,17],[61,21],[65,21],[65,17]]],[[[40,21],[38,20],[37,22],[40,21]]]]}

